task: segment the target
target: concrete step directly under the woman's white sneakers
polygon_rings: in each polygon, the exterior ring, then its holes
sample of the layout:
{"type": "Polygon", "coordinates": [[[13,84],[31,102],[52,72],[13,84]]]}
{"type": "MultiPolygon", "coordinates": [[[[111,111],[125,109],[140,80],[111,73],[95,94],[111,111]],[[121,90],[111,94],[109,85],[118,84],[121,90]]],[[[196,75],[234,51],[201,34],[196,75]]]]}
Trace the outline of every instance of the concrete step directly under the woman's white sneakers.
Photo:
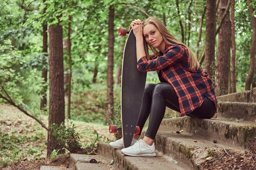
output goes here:
{"type": "Polygon", "coordinates": [[[161,152],[157,152],[157,157],[130,157],[122,154],[120,149],[101,142],[97,144],[97,153],[106,159],[114,159],[121,170],[191,170],[189,166],[161,152]]]}

